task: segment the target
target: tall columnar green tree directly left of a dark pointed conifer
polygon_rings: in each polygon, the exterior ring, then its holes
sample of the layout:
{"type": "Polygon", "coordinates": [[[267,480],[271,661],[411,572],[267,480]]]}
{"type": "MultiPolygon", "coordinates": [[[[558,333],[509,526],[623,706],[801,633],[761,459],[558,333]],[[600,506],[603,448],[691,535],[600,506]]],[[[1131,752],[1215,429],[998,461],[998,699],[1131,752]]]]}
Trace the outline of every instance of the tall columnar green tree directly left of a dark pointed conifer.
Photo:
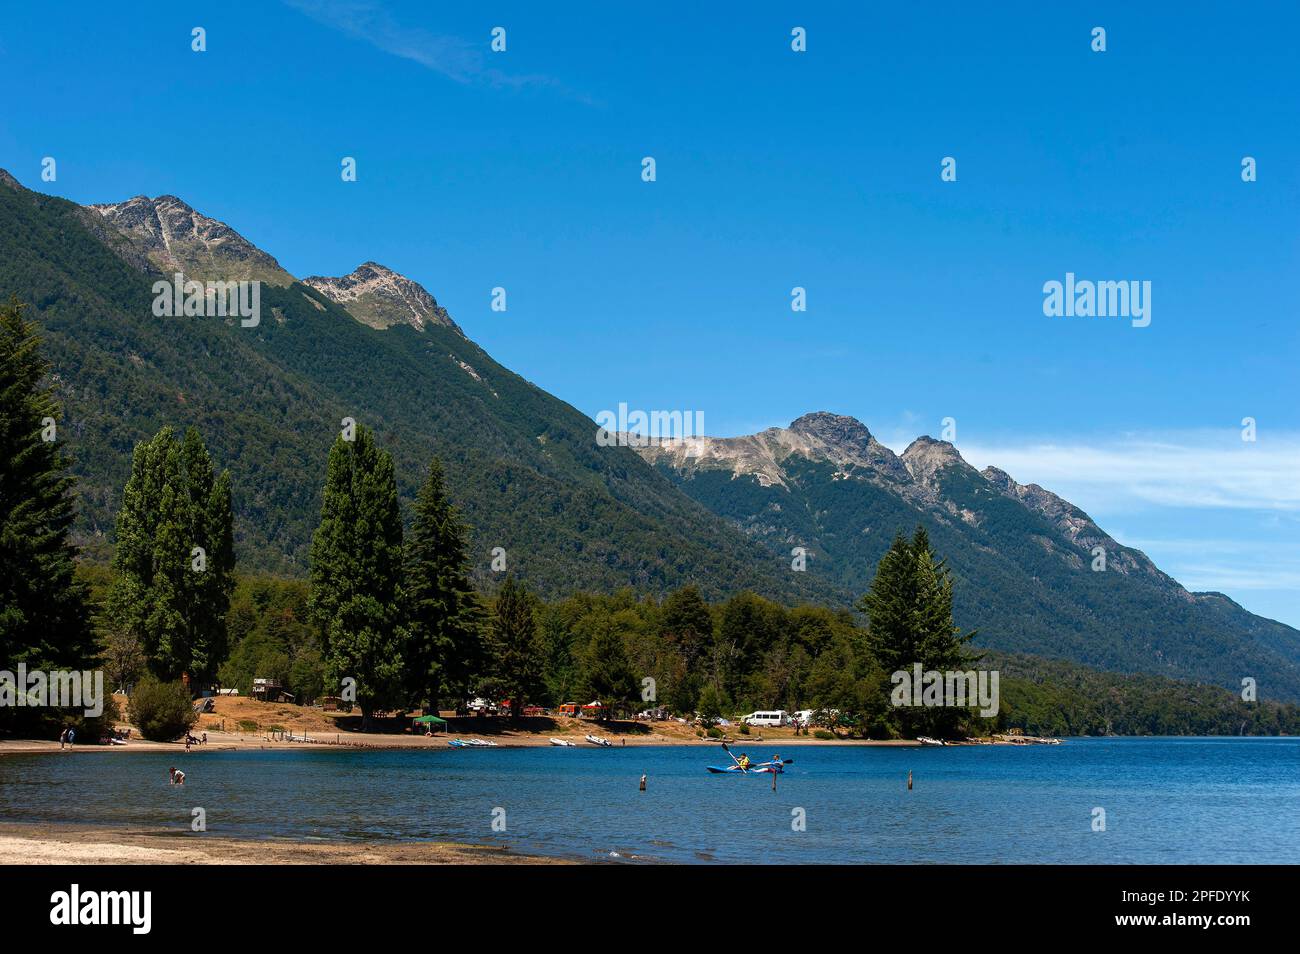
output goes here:
{"type": "MultiPolygon", "coordinates": [[[[330,448],[312,537],[308,608],[320,628],[326,685],[355,689],[364,728],[398,701],[406,649],[402,513],[393,458],[368,428],[330,448]],[[354,682],[344,682],[354,680],[354,682]]],[[[334,691],[339,691],[334,689],[334,691]]]]}

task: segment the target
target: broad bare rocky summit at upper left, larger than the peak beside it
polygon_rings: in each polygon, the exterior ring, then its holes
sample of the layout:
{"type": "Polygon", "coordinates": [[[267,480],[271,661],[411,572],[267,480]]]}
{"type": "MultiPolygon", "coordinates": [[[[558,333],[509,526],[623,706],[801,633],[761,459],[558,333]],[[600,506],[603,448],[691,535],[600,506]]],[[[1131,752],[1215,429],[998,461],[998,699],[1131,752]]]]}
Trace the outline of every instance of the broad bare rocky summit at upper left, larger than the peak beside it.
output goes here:
{"type": "Polygon", "coordinates": [[[174,195],[138,195],[122,203],[88,205],[165,274],[196,281],[261,281],[289,286],[280,263],[225,222],[196,212],[174,195]]]}

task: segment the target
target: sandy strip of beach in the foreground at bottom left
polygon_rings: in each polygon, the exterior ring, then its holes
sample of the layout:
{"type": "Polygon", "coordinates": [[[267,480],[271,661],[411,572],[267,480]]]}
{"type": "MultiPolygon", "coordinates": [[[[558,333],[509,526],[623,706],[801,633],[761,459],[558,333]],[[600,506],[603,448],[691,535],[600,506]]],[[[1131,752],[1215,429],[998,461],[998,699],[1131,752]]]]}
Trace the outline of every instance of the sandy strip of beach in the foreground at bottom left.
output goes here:
{"type": "MultiPolygon", "coordinates": [[[[5,864],[581,864],[502,845],[302,841],[207,832],[0,821],[5,864]]],[[[592,862],[594,863],[594,862],[592,862]]]]}

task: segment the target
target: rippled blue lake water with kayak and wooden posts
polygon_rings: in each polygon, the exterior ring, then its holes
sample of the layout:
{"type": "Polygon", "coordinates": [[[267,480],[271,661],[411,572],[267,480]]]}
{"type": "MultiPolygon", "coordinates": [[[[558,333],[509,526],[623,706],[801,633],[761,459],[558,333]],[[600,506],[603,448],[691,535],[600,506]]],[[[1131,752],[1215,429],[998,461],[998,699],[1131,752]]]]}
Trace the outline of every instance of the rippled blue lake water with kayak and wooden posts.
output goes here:
{"type": "Polygon", "coordinates": [[[5,755],[0,819],[187,831],[200,806],[208,832],[231,837],[463,841],[633,862],[1300,862],[1296,738],[780,754],[794,764],[775,793],[771,776],[706,773],[727,756],[702,743],[5,755]],[[168,784],[172,764],[185,786],[168,784]],[[498,808],[504,832],[493,828],[498,808]]]}

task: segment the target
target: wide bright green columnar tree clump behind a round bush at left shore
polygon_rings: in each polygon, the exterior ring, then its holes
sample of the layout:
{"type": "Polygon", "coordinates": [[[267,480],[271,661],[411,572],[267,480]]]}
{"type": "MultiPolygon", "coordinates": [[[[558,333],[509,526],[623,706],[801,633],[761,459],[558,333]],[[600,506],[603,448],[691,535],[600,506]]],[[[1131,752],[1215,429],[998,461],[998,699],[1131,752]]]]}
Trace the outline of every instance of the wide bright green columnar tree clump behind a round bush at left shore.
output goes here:
{"type": "Polygon", "coordinates": [[[139,641],[161,678],[216,677],[234,589],[230,474],[214,473],[199,433],[162,428],[131,455],[117,512],[109,625],[139,641]]]}

